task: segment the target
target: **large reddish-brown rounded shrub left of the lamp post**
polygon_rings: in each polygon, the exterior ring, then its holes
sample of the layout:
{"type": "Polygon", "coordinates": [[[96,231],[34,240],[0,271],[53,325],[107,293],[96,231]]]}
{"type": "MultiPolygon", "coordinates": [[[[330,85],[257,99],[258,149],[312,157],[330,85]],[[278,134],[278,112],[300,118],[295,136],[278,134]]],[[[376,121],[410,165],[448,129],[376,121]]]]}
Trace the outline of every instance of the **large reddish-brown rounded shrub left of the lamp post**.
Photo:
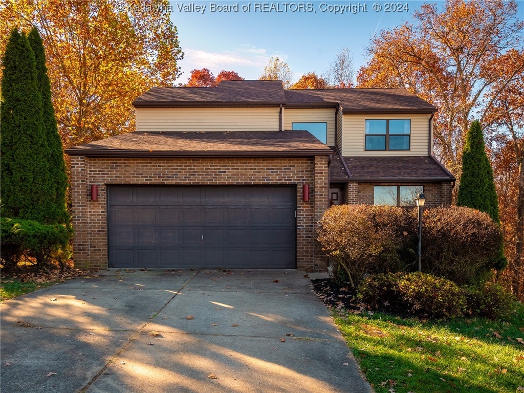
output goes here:
{"type": "Polygon", "coordinates": [[[317,241],[335,281],[355,288],[366,275],[414,266],[416,230],[416,217],[404,209],[339,205],[324,213],[317,241]]]}

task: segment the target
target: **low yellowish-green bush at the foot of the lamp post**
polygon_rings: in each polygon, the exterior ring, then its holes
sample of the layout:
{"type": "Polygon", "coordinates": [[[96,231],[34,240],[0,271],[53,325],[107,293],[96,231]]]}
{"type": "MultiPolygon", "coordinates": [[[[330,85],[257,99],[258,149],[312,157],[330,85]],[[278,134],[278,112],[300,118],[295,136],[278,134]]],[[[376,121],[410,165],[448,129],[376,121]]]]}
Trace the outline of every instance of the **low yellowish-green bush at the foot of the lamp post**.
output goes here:
{"type": "Polygon", "coordinates": [[[461,316],[466,306],[464,291],[454,282],[420,272],[372,276],[357,293],[359,300],[374,309],[431,319],[461,316]]]}

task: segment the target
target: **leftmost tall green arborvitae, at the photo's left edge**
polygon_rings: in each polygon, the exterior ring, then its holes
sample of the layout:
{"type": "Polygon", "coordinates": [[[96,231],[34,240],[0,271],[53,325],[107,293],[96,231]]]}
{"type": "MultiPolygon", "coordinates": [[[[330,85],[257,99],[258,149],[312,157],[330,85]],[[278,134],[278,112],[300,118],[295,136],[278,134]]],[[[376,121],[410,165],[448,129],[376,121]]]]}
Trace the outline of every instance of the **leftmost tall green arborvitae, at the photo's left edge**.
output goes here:
{"type": "Polygon", "coordinates": [[[1,214],[48,223],[46,205],[52,190],[42,97],[35,55],[17,29],[11,31],[2,62],[1,214]]]}

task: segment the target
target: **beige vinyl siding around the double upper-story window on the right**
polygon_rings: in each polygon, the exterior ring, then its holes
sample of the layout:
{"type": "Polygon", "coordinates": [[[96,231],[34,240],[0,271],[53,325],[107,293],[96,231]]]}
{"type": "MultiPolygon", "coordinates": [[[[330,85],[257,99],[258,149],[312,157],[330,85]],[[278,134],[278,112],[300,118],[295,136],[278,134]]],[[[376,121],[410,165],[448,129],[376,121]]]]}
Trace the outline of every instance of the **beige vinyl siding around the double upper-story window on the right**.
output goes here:
{"type": "Polygon", "coordinates": [[[427,156],[429,118],[431,114],[416,115],[344,115],[343,156],[427,156]],[[409,150],[366,151],[364,128],[366,119],[411,119],[409,150]]]}

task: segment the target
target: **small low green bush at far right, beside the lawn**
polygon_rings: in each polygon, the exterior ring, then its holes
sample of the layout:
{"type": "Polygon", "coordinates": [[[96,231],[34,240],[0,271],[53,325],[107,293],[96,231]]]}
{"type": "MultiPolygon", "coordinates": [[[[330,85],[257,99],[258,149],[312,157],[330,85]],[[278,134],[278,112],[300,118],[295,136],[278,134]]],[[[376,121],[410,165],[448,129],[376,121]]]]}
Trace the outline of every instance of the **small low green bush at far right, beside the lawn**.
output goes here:
{"type": "Polygon", "coordinates": [[[511,293],[494,282],[466,290],[468,312],[488,319],[507,318],[517,300],[511,293]]]}

